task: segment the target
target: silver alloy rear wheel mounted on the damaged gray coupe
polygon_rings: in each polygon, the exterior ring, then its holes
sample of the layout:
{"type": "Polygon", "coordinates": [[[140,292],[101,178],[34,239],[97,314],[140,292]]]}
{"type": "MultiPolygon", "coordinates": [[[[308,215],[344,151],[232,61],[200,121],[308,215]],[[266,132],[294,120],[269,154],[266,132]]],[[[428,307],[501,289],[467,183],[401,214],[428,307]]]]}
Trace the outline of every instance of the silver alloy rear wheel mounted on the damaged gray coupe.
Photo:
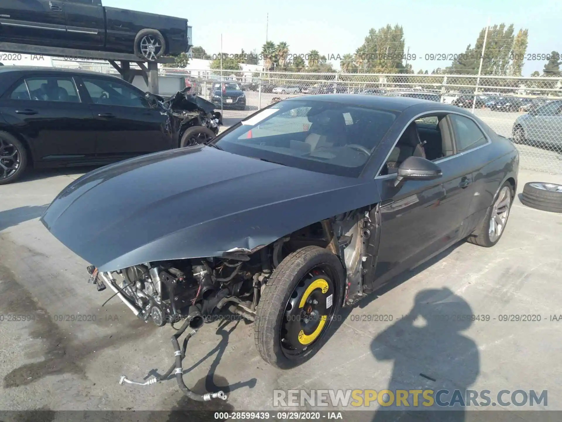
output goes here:
{"type": "Polygon", "coordinates": [[[513,187],[509,182],[505,182],[488,208],[481,226],[466,240],[474,245],[484,246],[484,248],[490,248],[498,243],[501,235],[504,234],[511,204],[513,204],[513,187]]]}

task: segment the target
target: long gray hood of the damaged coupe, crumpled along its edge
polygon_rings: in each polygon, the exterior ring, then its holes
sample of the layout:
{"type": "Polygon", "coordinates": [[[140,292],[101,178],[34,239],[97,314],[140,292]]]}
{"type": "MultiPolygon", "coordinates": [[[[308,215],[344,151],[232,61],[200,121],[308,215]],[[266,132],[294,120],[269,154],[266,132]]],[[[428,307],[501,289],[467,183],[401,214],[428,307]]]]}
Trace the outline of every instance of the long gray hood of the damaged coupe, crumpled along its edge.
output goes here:
{"type": "Polygon", "coordinates": [[[197,145],[121,161],[65,188],[43,225],[99,271],[251,253],[295,230],[376,203],[373,181],[197,145]]]}

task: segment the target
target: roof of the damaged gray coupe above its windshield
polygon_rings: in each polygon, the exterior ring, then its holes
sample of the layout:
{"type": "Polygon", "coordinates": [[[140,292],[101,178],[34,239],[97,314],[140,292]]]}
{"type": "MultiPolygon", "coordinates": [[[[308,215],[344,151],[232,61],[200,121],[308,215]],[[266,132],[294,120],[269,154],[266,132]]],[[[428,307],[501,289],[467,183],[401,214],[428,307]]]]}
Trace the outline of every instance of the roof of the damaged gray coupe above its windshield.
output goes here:
{"type": "MultiPolygon", "coordinates": [[[[416,104],[427,104],[435,106],[435,101],[423,100],[422,98],[410,98],[410,97],[387,97],[378,95],[359,95],[359,94],[317,94],[317,95],[303,95],[299,97],[287,98],[283,101],[331,101],[339,102],[340,104],[350,105],[350,106],[363,106],[372,107],[376,109],[387,109],[404,111],[408,107],[416,104]]],[[[456,110],[459,108],[455,106],[450,106],[447,104],[439,103],[439,106],[445,110],[456,110]]]]}

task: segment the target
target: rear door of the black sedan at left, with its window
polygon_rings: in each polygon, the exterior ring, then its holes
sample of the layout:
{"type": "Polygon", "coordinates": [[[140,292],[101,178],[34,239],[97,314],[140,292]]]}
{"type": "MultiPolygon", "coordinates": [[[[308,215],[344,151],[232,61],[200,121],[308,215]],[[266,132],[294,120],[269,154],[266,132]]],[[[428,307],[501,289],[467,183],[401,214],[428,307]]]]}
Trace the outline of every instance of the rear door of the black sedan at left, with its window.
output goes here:
{"type": "Polygon", "coordinates": [[[29,75],[0,101],[0,113],[28,141],[38,163],[82,163],[95,156],[93,120],[72,75],[29,75]]]}

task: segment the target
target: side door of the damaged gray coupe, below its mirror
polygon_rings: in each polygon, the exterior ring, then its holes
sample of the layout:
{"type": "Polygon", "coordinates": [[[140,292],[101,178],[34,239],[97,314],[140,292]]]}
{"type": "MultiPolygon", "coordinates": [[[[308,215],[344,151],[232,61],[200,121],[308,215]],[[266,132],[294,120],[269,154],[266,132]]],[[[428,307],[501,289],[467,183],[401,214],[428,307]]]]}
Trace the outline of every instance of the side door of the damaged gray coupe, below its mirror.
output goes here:
{"type": "MultiPolygon", "coordinates": [[[[441,119],[439,128],[444,145],[450,145],[451,128],[446,118],[441,119]]],[[[447,248],[463,234],[472,200],[470,169],[453,152],[434,163],[442,170],[442,176],[434,180],[406,179],[395,186],[396,174],[375,178],[381,202],[374,286],[447,248]]]]}

